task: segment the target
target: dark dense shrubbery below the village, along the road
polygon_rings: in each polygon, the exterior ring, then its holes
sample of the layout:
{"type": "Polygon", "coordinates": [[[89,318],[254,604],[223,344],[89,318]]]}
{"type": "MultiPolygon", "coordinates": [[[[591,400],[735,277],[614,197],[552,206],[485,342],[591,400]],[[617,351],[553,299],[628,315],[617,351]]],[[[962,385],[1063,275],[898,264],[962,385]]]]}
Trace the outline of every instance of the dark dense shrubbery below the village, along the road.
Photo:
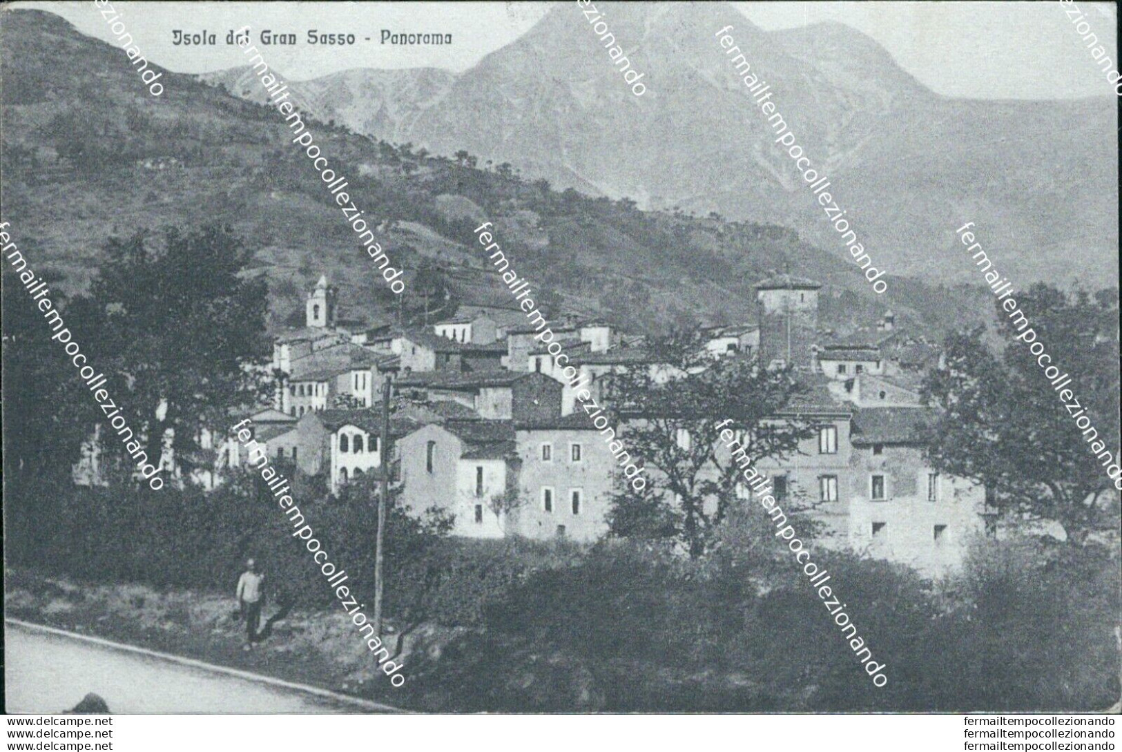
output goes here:
{"type": "MultiPolygon", "coordinates": [[[[232,591],[255,556],[268,591],[328,608],[330,588],[248,476],[217,492],[8,488],[7,557],[98,583],[232,591]],[[260,495],[258,495],[260,494],[260,495]]],[[[371,604],[376,513],[361,485],[301,512],[371,604]]],[[[1089,544],[987,542],[962,574],[815,550],[884,663],[873,686],[790,551],[733,519],[714,551],[443,537],[399,510],[387,535],[386,614],[467,627],[419,690],[461,710],[1096,710],[1118,701],[1116,558],[1089,544]],[[438,699],[440,698],[440,699],[438,699]]]]}

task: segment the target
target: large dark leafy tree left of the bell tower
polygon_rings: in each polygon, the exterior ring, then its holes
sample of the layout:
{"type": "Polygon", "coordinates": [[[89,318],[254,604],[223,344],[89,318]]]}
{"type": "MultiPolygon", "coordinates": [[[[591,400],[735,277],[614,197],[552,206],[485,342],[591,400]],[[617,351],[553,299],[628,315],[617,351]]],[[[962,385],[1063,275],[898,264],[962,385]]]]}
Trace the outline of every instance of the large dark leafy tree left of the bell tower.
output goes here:
{"type": "MultiPolygon", "coordinates": [[[[267,285],[247,278],[252,254],[230,228],[168,228],[158,249],[145,232],[111,237],[103,253],[89,295],[72,306],[75,325],[149,462],[168,430],[186,461],[201,429],[224,432],[232,411],[267,394],[267,285]]],[[[121,451],[117,443],[107,449],[121,451]]]]}

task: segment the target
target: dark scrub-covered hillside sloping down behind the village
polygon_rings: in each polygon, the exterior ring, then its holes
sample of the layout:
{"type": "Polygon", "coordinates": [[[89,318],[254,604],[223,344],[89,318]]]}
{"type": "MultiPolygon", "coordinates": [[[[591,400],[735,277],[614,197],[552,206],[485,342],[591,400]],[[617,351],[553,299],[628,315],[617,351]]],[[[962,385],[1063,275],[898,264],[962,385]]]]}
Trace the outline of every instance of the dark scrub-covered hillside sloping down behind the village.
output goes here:
{"type": "MultiPolygon", "coordinates": [[[[7,11],[0,33],[3,79],[18,82],[4,88],[4,217],[38,266],[49,262],[81,287],[111,232],[223,222],[256,253],[278,320],[302,308],[302,291],[324,272],[341,283],[353,312],[377,313],[384,283],[275,109],[173,73],[164,74],[157,100],[123,53],[49,13],[7,11]],[[56,148],[74,143],[100,154],[101,164],[54,159],[56,148]],[[19,157],[19,150],[36,156],[19,157]],[[184,166],[138,166],[149,157],[175,157],[184,166]]],[[[850,290],[846,305],[836,306],[842,320],[830,322],[835,327],[868,320],[885,304],[907,318],[921,300],[938,296],[919,286],[919,297],[875,299],[855,268],[790,230],[562,198],[443,158],[403,157],[322,123],[312,130],[351,178],[351,198],[367,217],[401,222],[381,239],[397,265],[412,268],[420,257],[479,259],[467,220],[449,220],[486,217],[535,288],[557,291],[568,305],[629,329],[751,321],[752,283],[772,268],[819,278],[835,296],[850,290]],[[403,174],[403,161],[419,168],[403,174]]]]}

